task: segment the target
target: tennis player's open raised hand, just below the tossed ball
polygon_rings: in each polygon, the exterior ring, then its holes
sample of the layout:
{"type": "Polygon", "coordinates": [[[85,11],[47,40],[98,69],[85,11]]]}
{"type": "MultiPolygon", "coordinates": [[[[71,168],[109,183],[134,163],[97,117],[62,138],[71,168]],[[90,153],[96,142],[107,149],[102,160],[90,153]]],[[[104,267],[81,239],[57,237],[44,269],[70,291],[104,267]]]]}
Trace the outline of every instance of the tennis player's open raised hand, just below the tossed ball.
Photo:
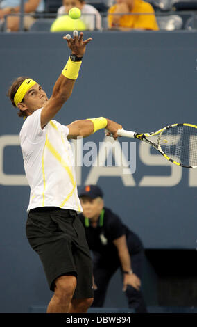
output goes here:
{"type": "Polygon", "coordinates": [[[92,38],[88,38],[84,41],[83,32],[80,32],[80,36],[78,37],[78,31],[74,31],[74,38],[71,38],[71,35],[67,34],[63,37],[63,39],[67,40],[67,44],[69,49],[71,49],[71,53],[76,54],[78,57],[82,57],[85,54],[87,43],[92,41],[92,38]]]}

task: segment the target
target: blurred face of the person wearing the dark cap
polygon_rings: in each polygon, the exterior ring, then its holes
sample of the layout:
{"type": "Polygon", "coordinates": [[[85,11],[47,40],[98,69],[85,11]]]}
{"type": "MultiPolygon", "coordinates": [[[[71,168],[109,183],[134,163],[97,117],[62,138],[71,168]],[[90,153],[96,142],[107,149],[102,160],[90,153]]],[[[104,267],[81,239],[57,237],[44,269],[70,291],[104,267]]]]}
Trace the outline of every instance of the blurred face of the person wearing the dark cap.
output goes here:
{"type": "Polygon", "coordinates": [[[85,217],[97,218],[100,216],[103,209],[103,200],[101,198],[92,199],[84,196],[80,198],[80,202],[85,217]]]}

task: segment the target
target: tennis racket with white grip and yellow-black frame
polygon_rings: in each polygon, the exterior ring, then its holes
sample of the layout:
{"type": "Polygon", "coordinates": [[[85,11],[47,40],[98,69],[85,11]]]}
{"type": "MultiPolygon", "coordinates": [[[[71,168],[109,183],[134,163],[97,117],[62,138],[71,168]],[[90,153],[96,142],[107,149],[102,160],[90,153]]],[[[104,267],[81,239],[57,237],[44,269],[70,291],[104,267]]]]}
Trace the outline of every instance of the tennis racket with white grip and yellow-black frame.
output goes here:
{"type": "MultiPolygon", "coordinates": [[[[105,129],[108,132],[107,129],[105,129]]],[[[197,126],[172,124],[151,133],[118,129],[119,136],[138,138],[155,147],[167,160],[186,168],[197,168],[197,126]]]]}

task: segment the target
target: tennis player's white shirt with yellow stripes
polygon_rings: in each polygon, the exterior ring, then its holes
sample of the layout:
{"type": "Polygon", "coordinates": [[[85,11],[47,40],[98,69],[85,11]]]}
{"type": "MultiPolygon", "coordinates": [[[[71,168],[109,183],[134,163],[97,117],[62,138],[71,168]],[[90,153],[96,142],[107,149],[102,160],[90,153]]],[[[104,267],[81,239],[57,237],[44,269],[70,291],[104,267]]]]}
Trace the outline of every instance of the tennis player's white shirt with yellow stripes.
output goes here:
{"type": "Polygon", "coordinates": [[[42,108],[28,116],[20,131],[24,170],[31,187],[27,211],[60,207],[82,212],[78,198],[74,157],[67,140],[69,129],[55,120],[41,128],[42,108]]]}

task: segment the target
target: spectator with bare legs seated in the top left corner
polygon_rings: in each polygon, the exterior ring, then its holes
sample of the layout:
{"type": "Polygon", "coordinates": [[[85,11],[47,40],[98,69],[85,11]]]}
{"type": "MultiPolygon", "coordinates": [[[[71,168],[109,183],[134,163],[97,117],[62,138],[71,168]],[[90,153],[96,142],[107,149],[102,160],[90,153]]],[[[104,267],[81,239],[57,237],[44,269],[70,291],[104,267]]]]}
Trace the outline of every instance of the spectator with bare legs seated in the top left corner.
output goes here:
{"type": "MultiPolygon", "coordinates": [[[[5,15],[20,13],[20,0],[3,0],[0,2],[0,22],[3,23],[5,15]]],[[[44,11],[44,0],[24,0],[24,13],[35,13],[44,11]]],[[[24,16],[24,29],[30,29],[35,22],[32,16],[24,16]]],[[[7,30],[16,32],[19,31],[20,17],[8,16],[7,30]]]]}

